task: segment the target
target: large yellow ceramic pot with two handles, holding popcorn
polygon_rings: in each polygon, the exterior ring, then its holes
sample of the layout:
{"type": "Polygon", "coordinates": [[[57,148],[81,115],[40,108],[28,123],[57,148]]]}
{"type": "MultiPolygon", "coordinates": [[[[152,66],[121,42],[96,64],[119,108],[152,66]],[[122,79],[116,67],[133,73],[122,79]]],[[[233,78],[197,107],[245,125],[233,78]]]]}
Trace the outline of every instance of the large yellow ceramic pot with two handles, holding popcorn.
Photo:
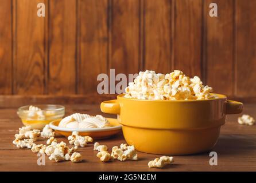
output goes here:
{"type": "Polygon", "coordinates": [[[193,154],[216,144],[226,114],[243,110],[241,102],[216,94],[211,100],[149,101],[124,98],[105,101],[104,113],[118,114],[127,144],[152,154],[193,154]]]}

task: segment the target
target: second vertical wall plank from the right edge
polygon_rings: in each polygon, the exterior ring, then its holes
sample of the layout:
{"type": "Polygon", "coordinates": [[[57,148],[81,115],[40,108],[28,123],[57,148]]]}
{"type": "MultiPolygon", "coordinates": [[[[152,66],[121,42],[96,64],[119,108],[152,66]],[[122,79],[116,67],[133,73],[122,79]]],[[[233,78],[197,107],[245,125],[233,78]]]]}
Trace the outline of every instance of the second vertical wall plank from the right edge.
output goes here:
{"type": "Polygon", "coordinates": [[[215,1],[218,17],[210,17],[210,3],[210,0],[204,1],[206,83],[215,93],[231,95],[234,87],[234,1],[215,1]]]}

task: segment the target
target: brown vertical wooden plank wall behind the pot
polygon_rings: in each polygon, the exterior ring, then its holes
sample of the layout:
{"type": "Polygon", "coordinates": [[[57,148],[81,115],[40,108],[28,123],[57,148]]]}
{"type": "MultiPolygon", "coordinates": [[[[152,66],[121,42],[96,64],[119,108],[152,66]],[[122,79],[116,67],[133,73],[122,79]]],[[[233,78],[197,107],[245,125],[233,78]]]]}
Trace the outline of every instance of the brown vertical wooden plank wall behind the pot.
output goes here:
{"type": "Polygon", "coordinates": [[[211,2],[0,0],[0,94],[97,96],[110,69],[179,69],[256,101],[256,0],[216,0],[219,17],[211,2]]]}

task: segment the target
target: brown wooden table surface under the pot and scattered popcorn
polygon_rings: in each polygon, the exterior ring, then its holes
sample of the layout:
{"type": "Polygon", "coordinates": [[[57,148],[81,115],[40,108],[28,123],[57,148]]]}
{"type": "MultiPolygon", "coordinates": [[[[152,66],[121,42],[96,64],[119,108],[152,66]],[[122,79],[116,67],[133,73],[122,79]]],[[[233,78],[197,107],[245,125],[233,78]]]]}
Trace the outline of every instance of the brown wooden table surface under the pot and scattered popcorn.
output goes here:
{"type": "MultiPolygon", "coordinates": [[[[99,105],[67,105],[66,114],[75,112],[100,113],[99,105]]],[[[247,104],[243,113],[256,118],[256,105],[247,104]]],[[[106,115],[105,115],[106,116],[106,115]]],[[[138,161],[100,162],[93,150],[93,144],[79,148],[84,161],[73,164],[70,161],[55,163],[46,158],[45,166],[37,165],[37,154],[30,149],[18,149],[12,144],[14,134],[22,126],[17,116],[17,108],[0,109],[0,171],[255,171],[256,170],[256,125],[241,126],[239,115],[227,117],[220,138],[212,151],[218,153],[218,166],[209,165],[209,152],[190,156],[174,156],[174,164],[164,169],[148,168],[148,161],[159,157],[154,154],[138,152],[138,161]]],[[[68,142],[57,136],[59,141],[68,142]]],[[[45,141],[41,141],[45,143],[45,141]]],[[[37,143],[41,143],[37,142],[37,143]]],[[[99,140],[100,144],[112,148],[125,143],[122,133],[113,138],[99,140]]]]}

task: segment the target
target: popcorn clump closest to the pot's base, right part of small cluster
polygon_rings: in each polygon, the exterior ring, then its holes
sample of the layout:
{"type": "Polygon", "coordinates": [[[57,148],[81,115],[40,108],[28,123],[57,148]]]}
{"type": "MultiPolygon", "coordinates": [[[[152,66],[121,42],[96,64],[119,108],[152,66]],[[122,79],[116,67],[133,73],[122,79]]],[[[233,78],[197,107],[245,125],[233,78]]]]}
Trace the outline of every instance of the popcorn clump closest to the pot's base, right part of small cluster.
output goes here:
{"type": "Polygon", "coordinates": [[[118,146],[114,146],[112,148],[111,157],[119,161],[138,160],[138,154],[134,148],[134,145],[127,146],[123,144],[122,148],[118,148],[118,146]]]}

